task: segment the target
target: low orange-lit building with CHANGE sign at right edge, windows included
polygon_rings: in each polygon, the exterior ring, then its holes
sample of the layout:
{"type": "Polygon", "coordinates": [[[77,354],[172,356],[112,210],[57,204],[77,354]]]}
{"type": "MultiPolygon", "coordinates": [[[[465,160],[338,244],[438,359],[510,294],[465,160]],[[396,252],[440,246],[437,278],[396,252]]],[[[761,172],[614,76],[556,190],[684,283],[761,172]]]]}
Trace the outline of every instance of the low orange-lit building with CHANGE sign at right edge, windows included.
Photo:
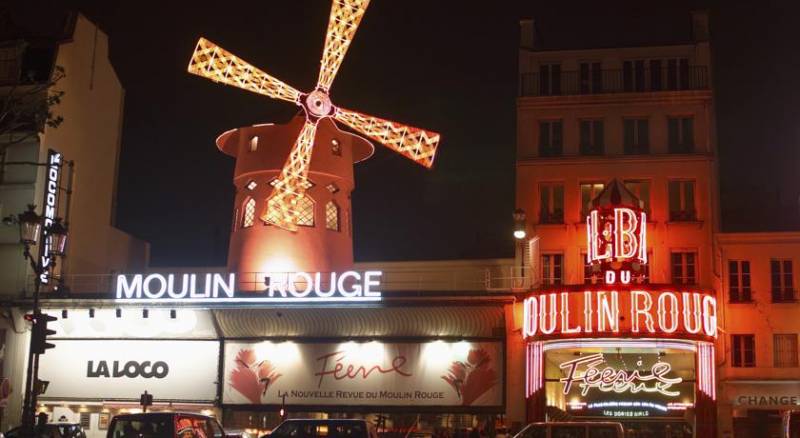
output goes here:
{"type": "Polygon", "coordinates": [[[725,303],[717,358],[721,436],[778,435],[782,418],[800,403],[794,275],[800,235],[721,233],[716,241],[717,290],[725,303]]]}

